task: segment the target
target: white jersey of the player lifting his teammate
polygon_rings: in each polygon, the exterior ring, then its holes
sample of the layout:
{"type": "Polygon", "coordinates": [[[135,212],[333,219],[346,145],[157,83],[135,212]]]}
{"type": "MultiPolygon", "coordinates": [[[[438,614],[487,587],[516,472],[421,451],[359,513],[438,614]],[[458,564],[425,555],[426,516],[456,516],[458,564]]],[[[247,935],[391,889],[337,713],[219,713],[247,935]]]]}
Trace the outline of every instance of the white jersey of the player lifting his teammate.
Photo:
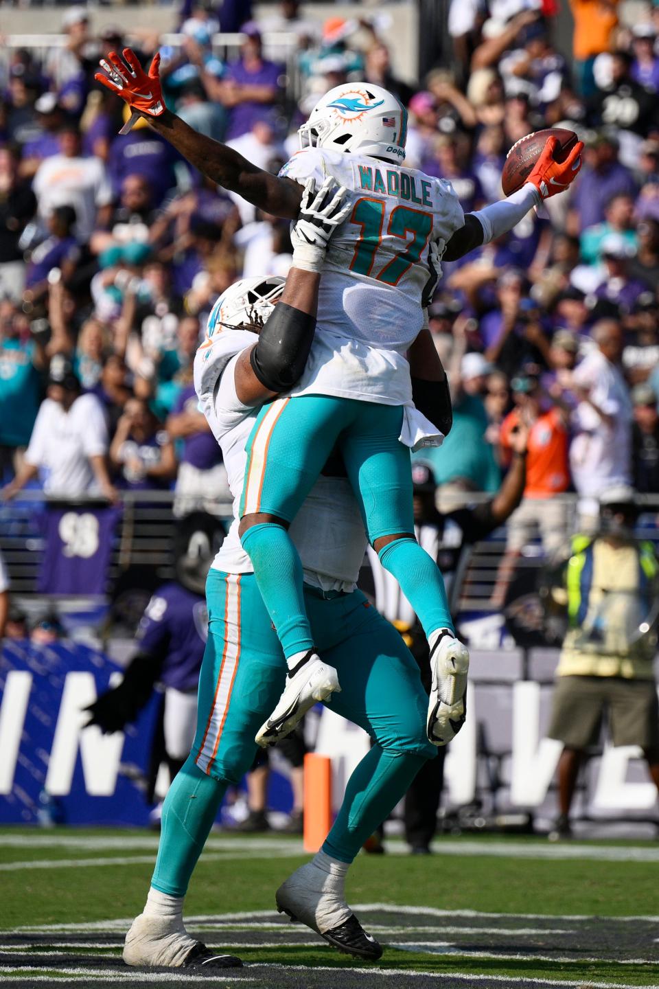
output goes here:
{"type": "MultiPolygon", "coordinates": [[[[195,357],[195,389],[221,447],[233,495],[233,521],[212,563],[212,569],[228,574],[253,572],[240,544],[238,522],[247,463],[245,446],[260,409],[239,402],[234,370],[238,355],[255,339],[247,330],[218,326],[195,357]]],[[[302,561],[305,584],[323,590],[355,588],[368,540],[346,478],[320,477],[288,531],[302,561]]]]}

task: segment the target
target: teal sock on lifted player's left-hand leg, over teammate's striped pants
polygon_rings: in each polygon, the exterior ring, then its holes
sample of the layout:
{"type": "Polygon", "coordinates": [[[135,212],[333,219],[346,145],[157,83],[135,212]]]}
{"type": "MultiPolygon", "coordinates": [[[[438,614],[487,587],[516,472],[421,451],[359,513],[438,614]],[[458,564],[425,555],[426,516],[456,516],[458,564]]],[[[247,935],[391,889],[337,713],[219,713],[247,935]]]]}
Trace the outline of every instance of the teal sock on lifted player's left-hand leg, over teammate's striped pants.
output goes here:
{"type": "Polygon", "coordinates": [[[302,564],[286,529],[273,522],[253,525],[241,536],[252,561],[256,583],[268,609],[284,655],[313,648],[304,607],[302,564]]]}

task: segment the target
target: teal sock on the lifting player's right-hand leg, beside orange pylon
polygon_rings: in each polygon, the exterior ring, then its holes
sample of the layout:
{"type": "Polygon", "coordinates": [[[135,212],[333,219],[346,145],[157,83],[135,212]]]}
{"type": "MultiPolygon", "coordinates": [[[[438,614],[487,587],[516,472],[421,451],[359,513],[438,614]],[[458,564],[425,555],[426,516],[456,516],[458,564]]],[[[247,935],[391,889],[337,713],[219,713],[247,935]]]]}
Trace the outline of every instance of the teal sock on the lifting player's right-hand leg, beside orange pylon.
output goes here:
{"type": "Polygon", "coordinates": [[[402,800],[427,758],[374,745],[348,780],[341,810],[322,851],[339,861],[352,862],[402,800]]]}

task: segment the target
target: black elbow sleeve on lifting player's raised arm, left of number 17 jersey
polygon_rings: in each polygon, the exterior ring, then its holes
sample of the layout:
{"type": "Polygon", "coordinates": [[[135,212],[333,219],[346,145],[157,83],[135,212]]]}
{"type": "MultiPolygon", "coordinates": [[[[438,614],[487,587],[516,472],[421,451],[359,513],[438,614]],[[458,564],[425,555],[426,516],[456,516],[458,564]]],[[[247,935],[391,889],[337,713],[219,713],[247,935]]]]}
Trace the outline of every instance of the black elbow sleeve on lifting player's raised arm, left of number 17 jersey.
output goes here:
{"type": "Polygon", "coordinates": [[[315,316],[277,304],[249,355],[254,374],[270,392],[288,392],[300,378],[315,328],[315,316]]]}

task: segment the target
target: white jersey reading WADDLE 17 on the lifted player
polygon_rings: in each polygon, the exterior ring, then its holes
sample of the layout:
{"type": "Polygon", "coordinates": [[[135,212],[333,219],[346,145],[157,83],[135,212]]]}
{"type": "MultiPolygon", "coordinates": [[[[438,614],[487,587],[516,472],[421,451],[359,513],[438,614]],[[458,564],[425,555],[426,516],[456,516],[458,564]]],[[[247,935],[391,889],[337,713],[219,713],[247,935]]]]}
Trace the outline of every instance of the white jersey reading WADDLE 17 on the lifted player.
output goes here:
{"type": "Polygon", "coordinates": [[[428,251],[440,255],[464,215],[449,182],[414,168],[326,148],[294,154],[281,175],[300,183],[331,175],[350,213],[327,250],[316,336],[292,395],[338,395],[411,405],[405,353],[423,325],[428,251]]]}

